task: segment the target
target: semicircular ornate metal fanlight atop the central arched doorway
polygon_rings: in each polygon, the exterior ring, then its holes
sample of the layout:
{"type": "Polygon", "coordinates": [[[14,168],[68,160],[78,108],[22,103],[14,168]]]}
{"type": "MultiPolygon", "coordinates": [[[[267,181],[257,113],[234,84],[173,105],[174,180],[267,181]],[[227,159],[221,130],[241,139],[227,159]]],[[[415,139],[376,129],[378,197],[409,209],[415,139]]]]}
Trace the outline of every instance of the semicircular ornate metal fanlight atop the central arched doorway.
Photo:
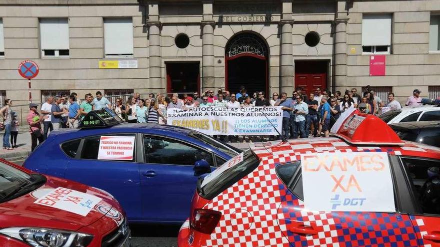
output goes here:
{"type": "Polygon", "coordinates": [[[234,57],[240,54],[252,54],[266,57],[267,48],[264,42],[254,34],[238,34],[229,40],[226,45],[226,56],[234,57]]]}

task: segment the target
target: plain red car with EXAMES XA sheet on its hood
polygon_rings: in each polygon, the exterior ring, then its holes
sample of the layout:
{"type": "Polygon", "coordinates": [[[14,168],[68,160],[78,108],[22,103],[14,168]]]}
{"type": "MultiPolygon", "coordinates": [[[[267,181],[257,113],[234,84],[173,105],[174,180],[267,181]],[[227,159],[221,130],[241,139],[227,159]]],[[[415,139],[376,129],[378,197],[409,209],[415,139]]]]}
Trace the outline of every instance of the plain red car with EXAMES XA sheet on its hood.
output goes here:
{"type": "Polygon", "coordinates": [[[128,247],[129,239],[107,192],[0,159],[1,247],[128,247]]]}

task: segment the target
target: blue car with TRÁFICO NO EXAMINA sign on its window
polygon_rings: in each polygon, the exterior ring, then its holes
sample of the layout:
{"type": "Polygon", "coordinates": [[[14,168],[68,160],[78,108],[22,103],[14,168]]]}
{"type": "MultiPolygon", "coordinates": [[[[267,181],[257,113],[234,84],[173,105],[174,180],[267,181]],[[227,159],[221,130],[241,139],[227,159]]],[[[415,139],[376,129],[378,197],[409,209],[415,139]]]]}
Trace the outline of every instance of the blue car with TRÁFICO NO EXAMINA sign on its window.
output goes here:
{"type": "MultiPolygon", "coordinates": [[[[85,118],[83,123],[94,123],[97,117],[91,121],[85,118]]],[[[239,152],[200,132],[170,125],[117,123],[82,127],[51,132],[23,166],[109,192],[122,205],[130,222],[184,222],[197,179],[239,152]],[[105,146],[111,144],[105,140],[133,143],[105,146]],[[124,155],[130,147],[130,155],[124,155]],[[106,159],[105,155],[112,153],[124,157],[106,159]]]]}

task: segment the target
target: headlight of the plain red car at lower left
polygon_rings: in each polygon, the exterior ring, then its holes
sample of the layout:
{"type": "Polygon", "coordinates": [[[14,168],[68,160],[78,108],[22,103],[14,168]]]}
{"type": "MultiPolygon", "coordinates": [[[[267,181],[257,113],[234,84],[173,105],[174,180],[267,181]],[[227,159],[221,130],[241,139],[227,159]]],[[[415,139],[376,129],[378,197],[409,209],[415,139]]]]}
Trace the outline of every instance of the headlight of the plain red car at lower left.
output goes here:
{"type": "Polygon", "coordinates": [[[45,228],[5,228],[0,234],[21,240],[33,247],[86,247],[93,236],[45,228]]]}

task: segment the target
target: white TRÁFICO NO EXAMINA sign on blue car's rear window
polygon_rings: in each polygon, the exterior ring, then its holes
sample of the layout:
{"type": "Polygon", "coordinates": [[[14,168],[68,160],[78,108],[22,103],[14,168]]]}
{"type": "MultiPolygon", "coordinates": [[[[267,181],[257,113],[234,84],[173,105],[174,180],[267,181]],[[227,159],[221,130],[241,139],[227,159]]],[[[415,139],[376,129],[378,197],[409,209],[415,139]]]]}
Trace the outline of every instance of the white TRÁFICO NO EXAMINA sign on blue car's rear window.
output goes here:
{"type": "Polygon", "coordinates": [[[134,136],[101,136],[98,160],[132,160],[134,136]]]}

